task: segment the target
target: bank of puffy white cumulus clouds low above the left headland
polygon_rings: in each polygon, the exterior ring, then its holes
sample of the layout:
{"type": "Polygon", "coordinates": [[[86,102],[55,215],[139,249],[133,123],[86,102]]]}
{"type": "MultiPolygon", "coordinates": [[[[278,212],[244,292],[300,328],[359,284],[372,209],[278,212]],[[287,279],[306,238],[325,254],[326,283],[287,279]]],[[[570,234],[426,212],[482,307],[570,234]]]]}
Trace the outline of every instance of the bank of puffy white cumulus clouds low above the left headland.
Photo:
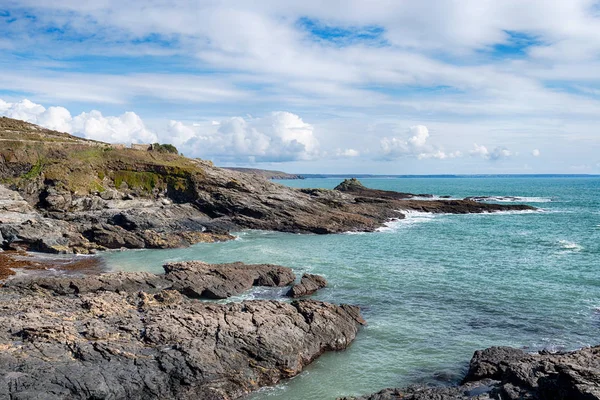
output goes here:
{"type": "MultiPolygon", "coordinates": [[[[262,118],[233,117],[207,123],[171,120],[158,134],[130,111],[120,116],[104,116],[92,110],[72,117],[64,107],[46,109],[29,100],[8,103],[0,99],[0,115],[109,143],[154,143],[160,138],[186,155],[220,161],[297,161],[321,155],[314,127],[286,111],[272,112],[262,118]]],[[[359,153],[346,149],[340,155],[356,157],[359,153]]]]}

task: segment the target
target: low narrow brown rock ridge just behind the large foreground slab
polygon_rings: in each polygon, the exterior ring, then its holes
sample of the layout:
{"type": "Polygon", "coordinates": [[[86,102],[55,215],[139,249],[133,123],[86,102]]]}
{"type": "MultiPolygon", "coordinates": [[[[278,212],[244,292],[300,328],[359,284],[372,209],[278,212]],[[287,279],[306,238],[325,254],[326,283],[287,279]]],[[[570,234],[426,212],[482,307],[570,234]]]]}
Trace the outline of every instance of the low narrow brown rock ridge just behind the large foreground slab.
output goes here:
{"type": "Polygon", "coordinates": [[[97,292],[157,293],[175,290],[190,298],[226,299],[252,286],[283,287],[296,278],[290,268],[271,264],[207,264],[201,261],[169,263],[163,275],[148,272],[115,272],[90,276],[14,278],[5,287],[42,288],[58,295],[97,292]]]}

